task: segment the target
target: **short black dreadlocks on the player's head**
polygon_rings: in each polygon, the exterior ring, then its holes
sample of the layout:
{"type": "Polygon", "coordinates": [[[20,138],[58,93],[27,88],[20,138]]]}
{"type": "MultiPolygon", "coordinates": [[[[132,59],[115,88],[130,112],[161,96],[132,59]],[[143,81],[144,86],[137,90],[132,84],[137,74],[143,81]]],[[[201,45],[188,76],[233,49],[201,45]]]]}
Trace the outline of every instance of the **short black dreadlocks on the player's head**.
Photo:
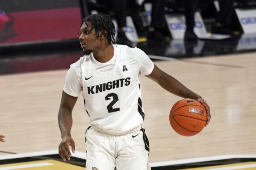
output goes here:
{"type": "Polygon", "coordinates": [[[115,40],[115,25],[114,23],[111,21],[110,16],[109,15],[105,15],[105,14],[93,14],[93,15],[89,15],[86,16],[81,24],[81,25],[85,22],[91,22],[92,24],[92,29],[95,30],[96,35],[99,37],[99,32],[101,32],[101,34],[105,37],[107,37],[108,40],[108,44],[116,44],[116,40],[115,40]]]}

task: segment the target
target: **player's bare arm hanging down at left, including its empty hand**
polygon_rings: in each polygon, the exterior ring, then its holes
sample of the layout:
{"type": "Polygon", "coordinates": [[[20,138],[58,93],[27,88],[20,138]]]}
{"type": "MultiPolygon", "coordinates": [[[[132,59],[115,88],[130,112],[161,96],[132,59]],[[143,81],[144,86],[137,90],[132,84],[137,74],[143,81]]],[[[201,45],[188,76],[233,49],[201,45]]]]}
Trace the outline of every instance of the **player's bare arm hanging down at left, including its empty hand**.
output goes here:
{"type": "Polygon", "coordinates": [[[72,152],[75,152],[75,142],[71,138],[71,127],[73,122],[72,111],[77,98],[78,97],[70,96],[66,94],[65,91],[62,91],[58,122],[62,139],[59,145],[59,154],[64,161],[70,160],[71,152],[69,146],[71,146],[72,152]]]}

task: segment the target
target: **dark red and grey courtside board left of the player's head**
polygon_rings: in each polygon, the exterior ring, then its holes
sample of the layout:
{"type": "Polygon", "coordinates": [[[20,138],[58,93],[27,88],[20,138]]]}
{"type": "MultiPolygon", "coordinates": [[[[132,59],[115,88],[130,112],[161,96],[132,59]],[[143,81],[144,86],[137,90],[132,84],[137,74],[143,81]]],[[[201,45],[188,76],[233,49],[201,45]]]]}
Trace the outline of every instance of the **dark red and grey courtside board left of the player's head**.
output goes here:
{"type": "Polygon", "coordinates": [[[77,39],[79,0],[0,0],[0,47],[77,39]]]}

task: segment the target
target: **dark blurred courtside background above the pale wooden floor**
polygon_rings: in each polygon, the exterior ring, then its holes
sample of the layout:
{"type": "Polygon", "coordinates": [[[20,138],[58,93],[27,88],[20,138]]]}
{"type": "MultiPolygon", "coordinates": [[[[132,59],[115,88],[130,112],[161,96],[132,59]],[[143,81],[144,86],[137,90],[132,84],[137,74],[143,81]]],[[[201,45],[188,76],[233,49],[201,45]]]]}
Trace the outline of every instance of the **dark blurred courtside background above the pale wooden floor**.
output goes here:
{"type": "Polygon", "coordinates": [[[113,19],[118,44],[137,46],[151,58],[250,52],[256,47],[255,7],[255,0],[0,0],[0,73],[67,68],[66,51],[80,52],[81,20],[97,12],[113,19]],[[55,65],[51,60],[59,54],[55,65]],[[47,64],[14,64],[30,56],[47,64]]]}

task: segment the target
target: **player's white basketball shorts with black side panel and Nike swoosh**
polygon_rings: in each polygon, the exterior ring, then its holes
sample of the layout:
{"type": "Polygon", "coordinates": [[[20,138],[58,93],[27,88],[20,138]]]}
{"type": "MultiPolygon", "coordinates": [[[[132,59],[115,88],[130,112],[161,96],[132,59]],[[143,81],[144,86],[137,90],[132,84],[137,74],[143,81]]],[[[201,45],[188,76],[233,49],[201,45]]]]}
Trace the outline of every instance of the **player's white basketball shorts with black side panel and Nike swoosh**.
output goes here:
{"type": "Polygon", "coordinates": [[[145,129],[111,135],[88,128],[86,170],[148,170],[149,142],[145,129]]]}

